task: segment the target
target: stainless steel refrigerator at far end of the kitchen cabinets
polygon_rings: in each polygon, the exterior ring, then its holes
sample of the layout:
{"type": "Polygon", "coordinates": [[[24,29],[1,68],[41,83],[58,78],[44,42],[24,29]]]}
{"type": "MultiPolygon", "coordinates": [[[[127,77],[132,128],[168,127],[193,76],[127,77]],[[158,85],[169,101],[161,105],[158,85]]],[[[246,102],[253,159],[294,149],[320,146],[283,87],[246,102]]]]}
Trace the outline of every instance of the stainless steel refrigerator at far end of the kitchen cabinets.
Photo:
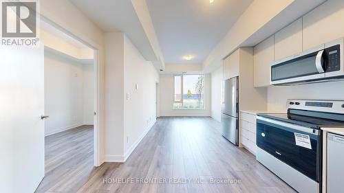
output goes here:
{"type": "Polygon", "coordinates": [[[239,144],[239,77],[222,82],[222,135],[236,146],[239,144]]]}

